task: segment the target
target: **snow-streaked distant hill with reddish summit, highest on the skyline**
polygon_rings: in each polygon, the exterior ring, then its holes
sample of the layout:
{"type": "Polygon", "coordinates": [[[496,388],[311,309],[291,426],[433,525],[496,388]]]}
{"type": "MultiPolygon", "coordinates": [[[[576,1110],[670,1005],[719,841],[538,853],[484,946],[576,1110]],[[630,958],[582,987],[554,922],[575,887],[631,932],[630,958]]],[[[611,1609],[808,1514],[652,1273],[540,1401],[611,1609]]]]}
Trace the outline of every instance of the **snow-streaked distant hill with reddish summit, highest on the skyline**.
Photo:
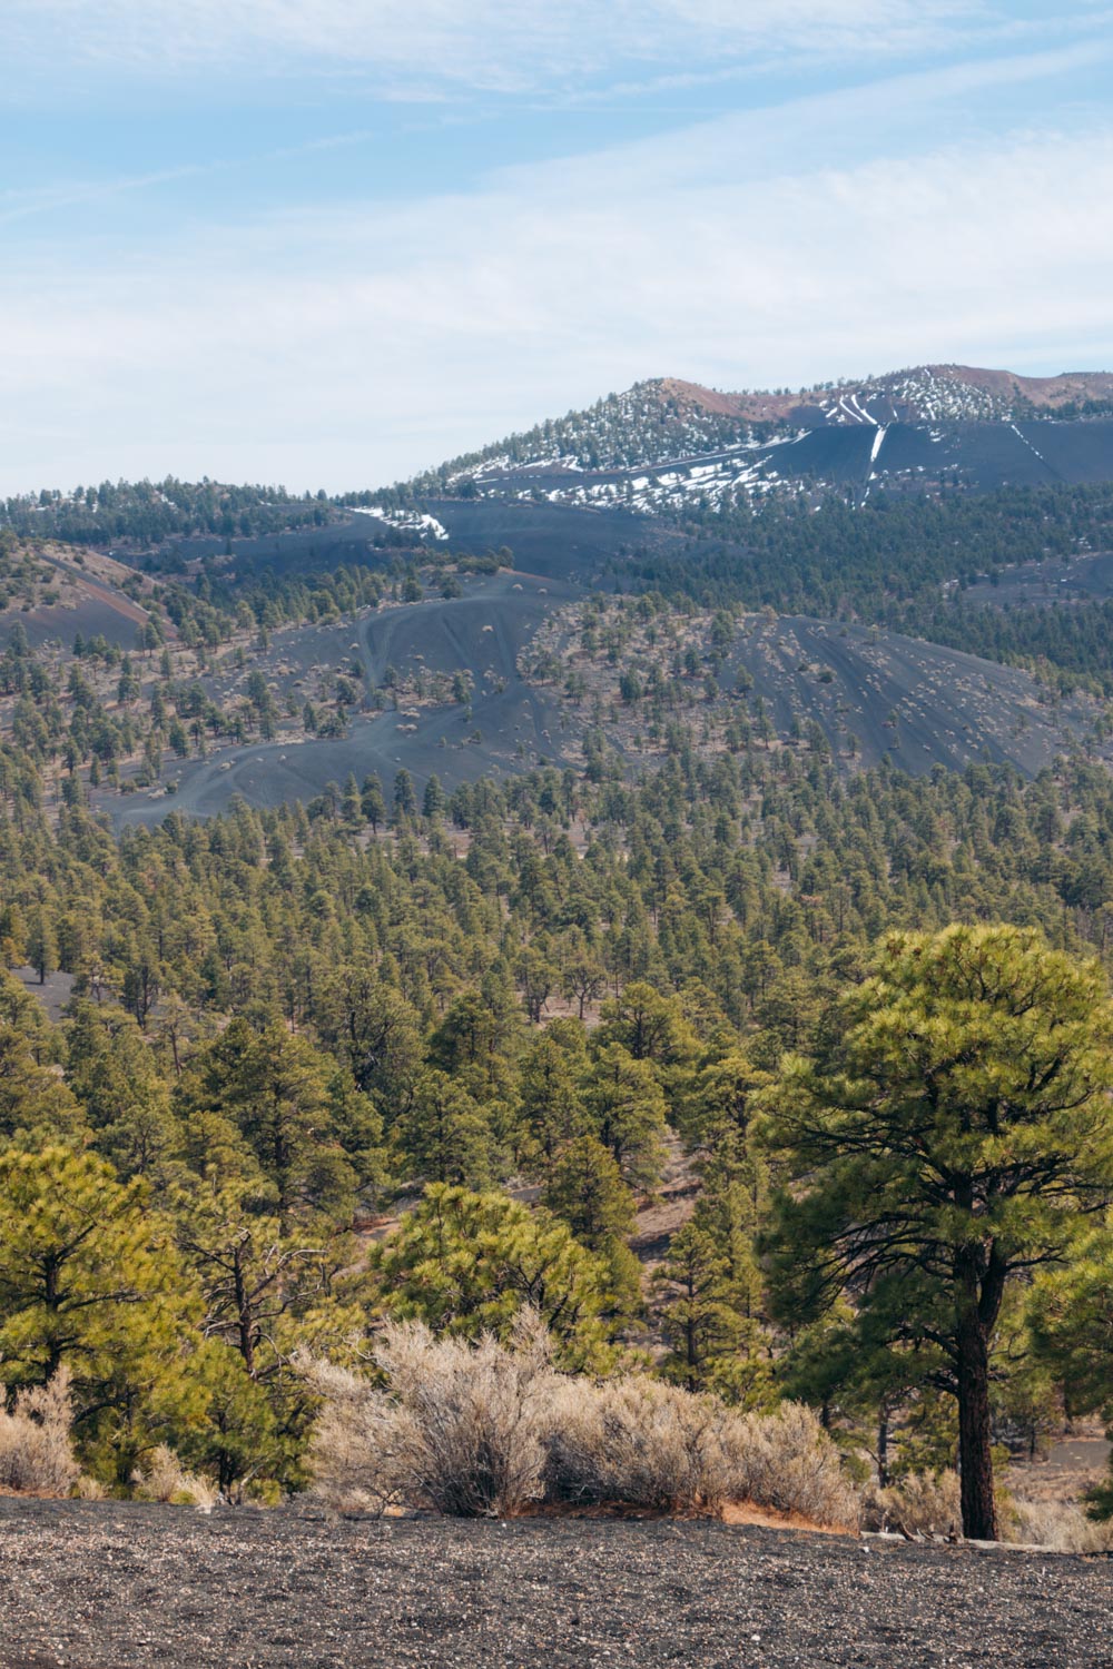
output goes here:
{"type": "Polygon", "coordinates": [[[736,494],[1096,481],[1113,481],[1111,372],[918,366],[796,391],[637,382],[360,499],[412,524],[444,496],[654,512],[736,494]]]}

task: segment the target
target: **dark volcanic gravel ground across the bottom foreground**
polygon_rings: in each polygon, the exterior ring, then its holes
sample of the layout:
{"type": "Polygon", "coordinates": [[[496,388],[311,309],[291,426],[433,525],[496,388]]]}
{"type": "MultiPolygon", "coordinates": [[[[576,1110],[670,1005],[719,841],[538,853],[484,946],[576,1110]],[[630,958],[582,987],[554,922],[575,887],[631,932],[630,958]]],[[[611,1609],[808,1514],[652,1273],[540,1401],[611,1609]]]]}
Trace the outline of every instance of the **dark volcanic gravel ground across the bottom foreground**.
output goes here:
{"type": "Polygon", "coordinates": [[[1113,1666],[1113,1564],[721,1524],[0,1502],[3,1669],[1113,1666]]]}

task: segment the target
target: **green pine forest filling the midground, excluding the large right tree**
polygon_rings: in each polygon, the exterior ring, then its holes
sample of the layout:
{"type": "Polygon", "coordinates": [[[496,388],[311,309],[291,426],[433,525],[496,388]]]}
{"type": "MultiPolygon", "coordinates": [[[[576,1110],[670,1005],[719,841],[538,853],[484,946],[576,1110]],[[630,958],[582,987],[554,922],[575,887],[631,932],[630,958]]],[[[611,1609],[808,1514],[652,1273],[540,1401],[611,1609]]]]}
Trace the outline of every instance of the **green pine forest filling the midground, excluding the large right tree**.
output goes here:
{"type": "MultiPolygon", "coordinates": [[[[804,1397],[848,1454],[883,1432],[883,1479],[953,1462],[933,1330],[894,1344],[869,1283],[848,1310],[851,1270],[828,1298],[801,1278],[784,1190],[814,1158],[778,1133],[778,1075],[786,1051],[834,1070],[894,933],[1013,923],[1036,935],[1005,941],[1021,973],[1036,943],[1071,978],[1106,961],[1105,769],[843,781],[687,751],[632,783],[604,756],[118,838],[8,784],[0,865],[3,958],[33,970],[3,986],[3,1372],[72,1375],[107,1487],[165,1444],[224,1489],[297,1487],[299,1352],[355,1360],[387,1317],[506,1332],[524,1307],[567,1369],[804,1397]],[[636,1212],[677,1165],[694,1215],[649,1275],[636,1212]]],[[[1046,1210],[1035,1190],[1025,1233],[1046,1210]]],[[[1086,1210],[1066,1273],[1050,1247],[1003,1288],[986,1394],[1015,1447],[1108,1395],[1086,1210]]]]}

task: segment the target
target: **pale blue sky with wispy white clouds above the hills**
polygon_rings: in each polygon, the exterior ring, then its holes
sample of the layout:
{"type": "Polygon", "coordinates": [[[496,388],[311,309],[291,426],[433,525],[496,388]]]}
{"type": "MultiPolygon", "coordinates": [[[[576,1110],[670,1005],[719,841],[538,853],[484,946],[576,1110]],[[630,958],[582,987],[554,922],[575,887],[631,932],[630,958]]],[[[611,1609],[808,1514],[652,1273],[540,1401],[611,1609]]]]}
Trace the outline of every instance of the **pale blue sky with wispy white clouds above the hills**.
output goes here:
{"type": "Polygon", "coordinates": [[[1113,366],[1088,0],[0,0],[0,492],[1113,366]]]}

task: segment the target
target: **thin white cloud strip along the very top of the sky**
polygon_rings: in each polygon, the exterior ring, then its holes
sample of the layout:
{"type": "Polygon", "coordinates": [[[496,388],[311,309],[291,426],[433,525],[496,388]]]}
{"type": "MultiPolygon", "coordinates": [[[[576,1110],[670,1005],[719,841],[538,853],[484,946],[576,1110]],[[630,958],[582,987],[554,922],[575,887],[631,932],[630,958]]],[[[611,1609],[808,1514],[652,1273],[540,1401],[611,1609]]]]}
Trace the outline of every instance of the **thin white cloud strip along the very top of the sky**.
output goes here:
{"type": "MultiPolygon", "coordinates": [[[[891,60],[1015,27],[1008,0],[7,0],[10,62],[50,73],[315,68],[536,92],[677,58],[891,60]]],[[[1050,22],[1050,20],[1048,20],[1050,22]]]]}

